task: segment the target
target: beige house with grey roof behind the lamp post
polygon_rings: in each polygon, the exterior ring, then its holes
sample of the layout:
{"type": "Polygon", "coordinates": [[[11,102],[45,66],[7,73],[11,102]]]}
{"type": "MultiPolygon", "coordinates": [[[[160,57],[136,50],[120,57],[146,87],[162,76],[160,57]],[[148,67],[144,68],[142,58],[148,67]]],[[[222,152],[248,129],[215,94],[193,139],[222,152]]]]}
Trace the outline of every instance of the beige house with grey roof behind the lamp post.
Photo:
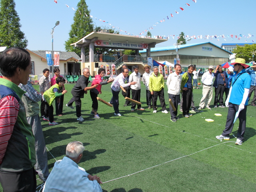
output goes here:
{"type": "MultiPolygon", "coordinates": [[[[52,78],[52,67],[47,65],[46,51],[48,50],[37,50],[32,51],[26,49],[30,53],[32,70],[31,76],[34,78],[35,83],[43,76],[43,70],[45,68],[50,69],[50,78],[52,78]]],[[[55,51],[56,52],[56,51],[55,51]]],[[[60,52],[60,75],[75,75],[81,74],[80,61],[81,58],[75,52],[60,52]]]]}

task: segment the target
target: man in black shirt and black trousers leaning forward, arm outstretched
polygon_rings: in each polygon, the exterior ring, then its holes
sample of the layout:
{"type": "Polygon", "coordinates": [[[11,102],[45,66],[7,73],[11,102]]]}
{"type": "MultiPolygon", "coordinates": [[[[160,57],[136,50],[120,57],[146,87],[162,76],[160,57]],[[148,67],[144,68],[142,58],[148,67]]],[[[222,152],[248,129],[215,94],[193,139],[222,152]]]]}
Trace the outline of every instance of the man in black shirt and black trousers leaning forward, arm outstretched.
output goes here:
{"type": "Polygon", "coordinates": [[[74,109],[72,106],[73,102],[76,103],[76,116],[78,121],[84,121],[84,118],[81,116],[81,98],[84,98],[84,94],[87,94],[88,90],[96,88],[98,86],[94,85],[91,87],[88,86],[88,79],[90,77],[90,70],[88,68],[83,68],[83,75],[77,80],[76,85],[73,87],[71,94],[73,97],[71,100],[66,104],[67,107],[74,109]]]}

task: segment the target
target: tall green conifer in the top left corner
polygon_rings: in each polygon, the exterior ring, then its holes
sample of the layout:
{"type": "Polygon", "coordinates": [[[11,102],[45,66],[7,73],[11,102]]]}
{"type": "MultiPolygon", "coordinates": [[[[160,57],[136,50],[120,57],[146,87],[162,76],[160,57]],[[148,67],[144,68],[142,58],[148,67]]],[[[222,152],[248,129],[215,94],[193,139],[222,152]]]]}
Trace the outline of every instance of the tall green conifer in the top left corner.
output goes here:
{"type": "Polygon", "coordinates": [[[0,6],[0,46],[26,48],[28,40],[20,30],[20,18],[14,0],[1,0],[0,6]]]}

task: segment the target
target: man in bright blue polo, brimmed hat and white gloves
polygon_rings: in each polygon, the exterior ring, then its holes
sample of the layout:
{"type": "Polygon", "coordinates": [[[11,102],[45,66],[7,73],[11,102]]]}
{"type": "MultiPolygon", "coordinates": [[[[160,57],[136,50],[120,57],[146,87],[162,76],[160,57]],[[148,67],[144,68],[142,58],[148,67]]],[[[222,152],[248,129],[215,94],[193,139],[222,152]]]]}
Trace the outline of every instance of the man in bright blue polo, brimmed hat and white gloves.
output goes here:
{"type": "Polygon", "coordinates": [[[226,121],[226,127],[220,136],[216,136],[217,139],[229,140],[229,134],[231,134],[236,112],[238,112],[239,127],[237,132],[236,145],[242,145],[244,139],[244,132],[246,128],[246,110],[248,105],[248,94],[250,90],[251,77],[246,73],[245,68],[249,66],[245,64],[245,60],[242,58],[236,58],[234,65],[234,76],[232,79],[232,85],[230,88],[230,94],[225,102],[228,107],[228,115],[226,121]]]}

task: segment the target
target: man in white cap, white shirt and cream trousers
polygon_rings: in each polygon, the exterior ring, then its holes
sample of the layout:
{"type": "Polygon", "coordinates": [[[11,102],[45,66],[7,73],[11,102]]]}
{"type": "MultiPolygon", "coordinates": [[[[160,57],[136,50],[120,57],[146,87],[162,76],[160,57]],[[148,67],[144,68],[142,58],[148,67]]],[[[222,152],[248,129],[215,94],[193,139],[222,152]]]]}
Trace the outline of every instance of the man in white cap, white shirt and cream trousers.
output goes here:
{"type": "Polygon", "coordinates": [[[207,103],[206,108],[211,109],[209,107],[209,105],[210,105],[210,102],[212,100],[212,84],[213,84],[212,80],[214,78],[214,74],[212,72],[213,70],[214,70],[214,67],[209,66],[208,67],[208,72],[205,72],[202,76],[203,96],[202,96],[202,99],[200,101],[198,110],[203,109],[205,103],[207,103]]]}

